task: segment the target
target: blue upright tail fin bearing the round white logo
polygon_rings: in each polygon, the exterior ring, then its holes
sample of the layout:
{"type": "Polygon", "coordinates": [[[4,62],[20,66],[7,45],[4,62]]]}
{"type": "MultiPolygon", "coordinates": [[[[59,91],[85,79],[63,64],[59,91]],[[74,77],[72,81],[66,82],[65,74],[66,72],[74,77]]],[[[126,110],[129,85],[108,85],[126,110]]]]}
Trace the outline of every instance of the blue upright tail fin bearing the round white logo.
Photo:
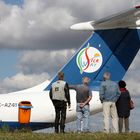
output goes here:
{"type": "MultiPolygon", "coordinates": [[[[123,78],[140,48],[140,30],[112,29],[94,32],[70,61],[61,69],[69,84],[81,84],[83,77],[91,86],[102,80],[109,71],[112,80],[123,78]]],[[[57,75],[45,90],[57,80],[57,75]]]]}

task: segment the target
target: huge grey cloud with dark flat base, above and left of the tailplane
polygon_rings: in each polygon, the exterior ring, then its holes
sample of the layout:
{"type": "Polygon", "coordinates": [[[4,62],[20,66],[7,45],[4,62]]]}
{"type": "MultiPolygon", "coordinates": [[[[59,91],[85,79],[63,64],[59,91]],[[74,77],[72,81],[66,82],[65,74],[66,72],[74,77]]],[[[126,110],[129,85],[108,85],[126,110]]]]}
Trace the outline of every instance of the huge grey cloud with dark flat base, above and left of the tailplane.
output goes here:
{"type": "Polygon", "coordinates": [[[76,48],[86,33],[69,27],[132,7],[131,0],[25,0],[22,7],[0,1],[0,48],[76,48]],[[7,41],[8,40],[8,41],[7,41]]]}

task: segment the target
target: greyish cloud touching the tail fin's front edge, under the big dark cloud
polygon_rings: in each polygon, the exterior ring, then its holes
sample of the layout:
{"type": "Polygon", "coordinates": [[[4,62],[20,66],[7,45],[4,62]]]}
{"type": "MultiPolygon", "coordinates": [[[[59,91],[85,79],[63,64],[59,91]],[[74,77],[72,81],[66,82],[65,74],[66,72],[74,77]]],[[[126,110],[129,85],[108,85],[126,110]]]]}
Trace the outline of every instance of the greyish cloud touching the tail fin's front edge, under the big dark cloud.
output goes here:
{"type": "Polygon", "coordinates": [[[75,51],[25,51],[19,56],[18,68],[24,74],[39,74],[46,72],[53,76],[73,55],[75,51]]]}

